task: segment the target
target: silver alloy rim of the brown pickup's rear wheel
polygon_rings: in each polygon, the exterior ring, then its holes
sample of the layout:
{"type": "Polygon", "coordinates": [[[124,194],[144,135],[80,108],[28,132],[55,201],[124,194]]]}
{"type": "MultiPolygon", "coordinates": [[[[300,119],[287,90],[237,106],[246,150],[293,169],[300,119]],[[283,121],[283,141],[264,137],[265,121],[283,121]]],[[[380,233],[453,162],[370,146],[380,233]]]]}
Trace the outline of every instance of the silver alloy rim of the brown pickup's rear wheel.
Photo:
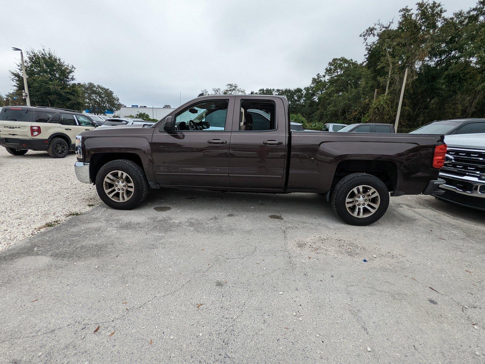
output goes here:
{"type": "Polygon", "coordinates": [[[381,197],[375,188],[360,185],[353,188],[345,199],[345,207],[350,215],[355,217],[369,217],[377,211],[381,197]]]}

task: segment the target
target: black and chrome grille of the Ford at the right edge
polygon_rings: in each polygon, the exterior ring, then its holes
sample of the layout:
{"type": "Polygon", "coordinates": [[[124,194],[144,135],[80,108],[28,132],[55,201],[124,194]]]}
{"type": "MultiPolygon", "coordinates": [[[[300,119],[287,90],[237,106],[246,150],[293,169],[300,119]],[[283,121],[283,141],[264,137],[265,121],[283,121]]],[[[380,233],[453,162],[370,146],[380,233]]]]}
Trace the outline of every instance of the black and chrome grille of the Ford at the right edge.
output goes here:
{"type": "Polygon", "coordinates": [[[445,161],[443,172],[482,178],[485,182],[485,151],[448,148],[446,154],[450,155],[453,160],[445,161]]]}

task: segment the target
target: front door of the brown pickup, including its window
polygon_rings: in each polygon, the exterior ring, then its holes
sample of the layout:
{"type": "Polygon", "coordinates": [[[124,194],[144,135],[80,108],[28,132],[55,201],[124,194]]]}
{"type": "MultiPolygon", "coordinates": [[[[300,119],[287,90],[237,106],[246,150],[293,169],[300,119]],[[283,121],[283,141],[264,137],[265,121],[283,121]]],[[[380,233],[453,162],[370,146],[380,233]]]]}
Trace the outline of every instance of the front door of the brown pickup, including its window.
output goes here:
{"type": "Polygon", "coordinates": [[[176,130],[154,131],[151,149],[157,183],[229,187],[233,103],[222,97],[195,102],[173,116],[176,130]]]}

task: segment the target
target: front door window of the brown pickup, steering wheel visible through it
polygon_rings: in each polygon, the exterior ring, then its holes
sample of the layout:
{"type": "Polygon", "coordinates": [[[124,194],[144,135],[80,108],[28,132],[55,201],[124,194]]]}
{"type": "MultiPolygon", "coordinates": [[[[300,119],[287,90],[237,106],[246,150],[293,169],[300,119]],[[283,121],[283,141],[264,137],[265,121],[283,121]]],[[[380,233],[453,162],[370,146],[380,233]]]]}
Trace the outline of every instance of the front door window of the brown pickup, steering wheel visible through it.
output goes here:
{"type": "Polygon", "coordinates": [[[226,130],[227,101],[203,101],[175,117],[175,130],[211,132],[226,130]]]}

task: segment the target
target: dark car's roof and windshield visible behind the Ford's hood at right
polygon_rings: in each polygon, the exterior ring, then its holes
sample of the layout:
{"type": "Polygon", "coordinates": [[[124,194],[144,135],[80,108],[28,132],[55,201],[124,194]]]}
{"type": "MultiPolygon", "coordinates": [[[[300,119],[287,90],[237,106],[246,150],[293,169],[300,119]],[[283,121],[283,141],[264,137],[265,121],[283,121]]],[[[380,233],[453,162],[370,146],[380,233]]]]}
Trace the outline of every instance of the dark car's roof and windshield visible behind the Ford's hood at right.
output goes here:
{"type": "Polygon", "coordinates": [[[474,134],[485,133],[485,119],[453,119],[435,120],[420,126],[410,132],[411,134],[474,134]]]}

